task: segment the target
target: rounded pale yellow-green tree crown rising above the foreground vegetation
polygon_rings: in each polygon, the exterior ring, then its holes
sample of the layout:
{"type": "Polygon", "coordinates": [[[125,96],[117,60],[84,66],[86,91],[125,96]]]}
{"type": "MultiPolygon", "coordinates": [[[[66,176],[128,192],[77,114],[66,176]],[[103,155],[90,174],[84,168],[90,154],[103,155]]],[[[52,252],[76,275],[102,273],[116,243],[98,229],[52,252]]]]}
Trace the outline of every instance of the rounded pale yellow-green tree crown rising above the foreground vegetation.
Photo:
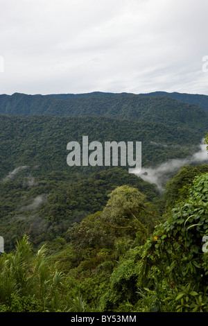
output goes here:
{"type": "Polygon", "coordinates": [[[101,221],[115,237],[140,237],[145,241],[155,225],[153,207],[146,202],[146,196],[129,186],[117,187],[109,195],[103,209],[101,221]]]}

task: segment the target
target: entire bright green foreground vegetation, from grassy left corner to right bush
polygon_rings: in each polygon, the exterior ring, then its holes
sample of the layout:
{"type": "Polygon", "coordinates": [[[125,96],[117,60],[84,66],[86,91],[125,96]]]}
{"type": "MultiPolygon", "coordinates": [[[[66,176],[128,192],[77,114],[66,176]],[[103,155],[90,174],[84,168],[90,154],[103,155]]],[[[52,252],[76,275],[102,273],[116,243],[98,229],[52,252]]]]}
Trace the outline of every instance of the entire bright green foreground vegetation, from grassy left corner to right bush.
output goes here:
{"type": "Polygon", "coordinates": [[[162,217],[138,189],[117,187],[50,255],[24,236],[0,259],[1,311],[208,311],[208,173],[191,183],[162,217]]]}

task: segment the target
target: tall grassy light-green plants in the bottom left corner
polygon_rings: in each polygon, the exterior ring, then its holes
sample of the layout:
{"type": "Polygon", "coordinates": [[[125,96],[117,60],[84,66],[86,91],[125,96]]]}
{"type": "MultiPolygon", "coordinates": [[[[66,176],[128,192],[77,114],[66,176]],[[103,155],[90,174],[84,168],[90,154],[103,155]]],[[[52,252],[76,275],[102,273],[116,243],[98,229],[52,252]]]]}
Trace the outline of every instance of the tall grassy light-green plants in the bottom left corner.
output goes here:
{"type": "Polygon", "coordinates": [[[37,312],[65,309],[62,298],[64,275],[48,266],[46,248],[33,253],[28,237],[17,241],[15,252],[0,257],[1,311],[37,312]]]}

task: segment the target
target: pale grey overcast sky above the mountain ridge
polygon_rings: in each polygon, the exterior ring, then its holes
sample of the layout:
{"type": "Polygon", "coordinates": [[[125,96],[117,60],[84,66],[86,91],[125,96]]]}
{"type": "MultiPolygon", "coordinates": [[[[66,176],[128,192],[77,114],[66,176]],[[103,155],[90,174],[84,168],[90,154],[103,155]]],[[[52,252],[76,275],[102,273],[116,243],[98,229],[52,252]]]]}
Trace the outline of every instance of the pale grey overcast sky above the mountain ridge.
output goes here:
{"type": "Polygon", "coordinates": [[[0,94],[208,95],[207,0],[0,5],[0,94]]]}

